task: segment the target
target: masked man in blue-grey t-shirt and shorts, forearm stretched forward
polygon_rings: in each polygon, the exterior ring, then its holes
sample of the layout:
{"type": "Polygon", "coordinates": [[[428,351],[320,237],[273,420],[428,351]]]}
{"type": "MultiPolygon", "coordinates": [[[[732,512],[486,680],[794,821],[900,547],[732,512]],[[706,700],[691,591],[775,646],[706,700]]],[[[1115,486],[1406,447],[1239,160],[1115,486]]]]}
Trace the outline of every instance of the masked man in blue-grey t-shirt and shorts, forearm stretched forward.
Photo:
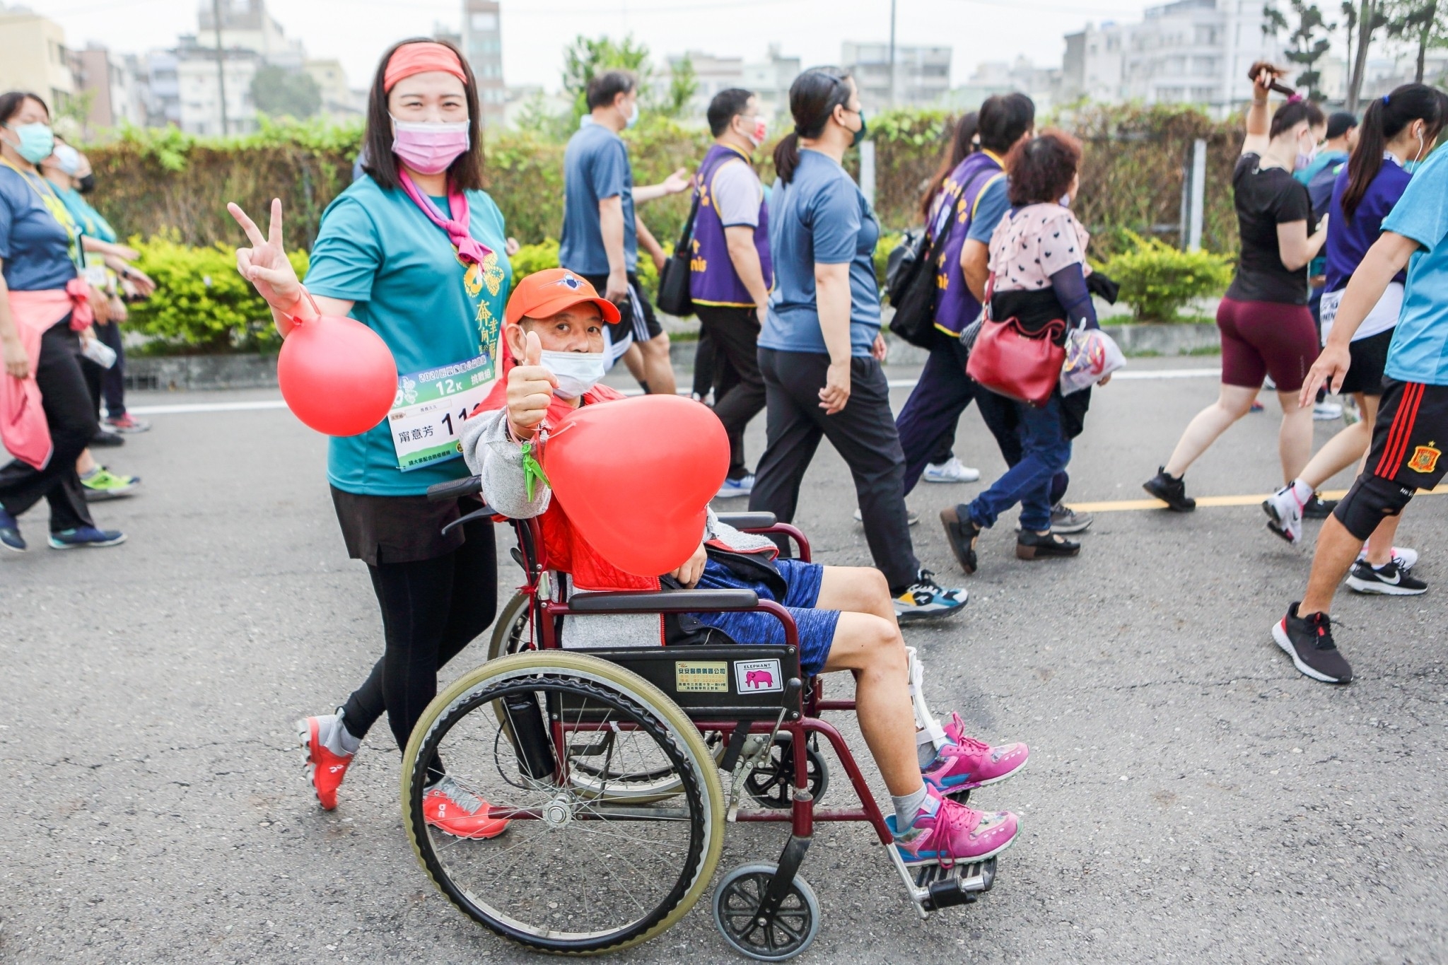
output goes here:
{"type": "Polygon", "coordinates": [[[557,262],[618,305],[623,320],[608,326],[608,360],[630,353],[628,367],[647,391],[673,395],[669,336],[637,275],[639,246],[657,268],[663,268],[663,249],[634,213],[634,204],[686,191],[689,172],[679,168],[663,184],[634,187],[628,146],[618,136],[639,120],[639,80],[633,74],[599,74],[588,82],[586,97],[589,113],[563,152],[563,234],[557,262]]]}

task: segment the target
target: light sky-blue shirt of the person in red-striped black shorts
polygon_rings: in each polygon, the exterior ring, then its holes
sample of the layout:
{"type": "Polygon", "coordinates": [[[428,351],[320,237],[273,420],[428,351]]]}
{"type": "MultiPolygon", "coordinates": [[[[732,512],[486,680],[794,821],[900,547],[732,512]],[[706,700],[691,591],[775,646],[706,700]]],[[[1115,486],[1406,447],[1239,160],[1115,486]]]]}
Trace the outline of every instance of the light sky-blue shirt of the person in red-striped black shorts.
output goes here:
{"type": "Polygon", "coordinates": [[[1435,150],[1413,174],[1383,230],[1422,245],[1407,262],[1387,375],[1448,385],[1448,150],[1435,150]]]}

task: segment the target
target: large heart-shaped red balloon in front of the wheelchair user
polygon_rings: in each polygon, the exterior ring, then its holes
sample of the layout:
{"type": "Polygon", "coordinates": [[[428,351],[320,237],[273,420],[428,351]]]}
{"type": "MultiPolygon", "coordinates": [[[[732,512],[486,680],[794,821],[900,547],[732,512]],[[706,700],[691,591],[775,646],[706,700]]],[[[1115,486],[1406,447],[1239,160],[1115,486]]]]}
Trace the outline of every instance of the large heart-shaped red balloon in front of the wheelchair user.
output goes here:
{"type": "Polygon", "coordinates": [[[585,405],[549,435],[543,472],[605,560],[660,576],[699,547],[704,511],[728,473],[728,434],[710,408],[676,395],[585,405]]]}

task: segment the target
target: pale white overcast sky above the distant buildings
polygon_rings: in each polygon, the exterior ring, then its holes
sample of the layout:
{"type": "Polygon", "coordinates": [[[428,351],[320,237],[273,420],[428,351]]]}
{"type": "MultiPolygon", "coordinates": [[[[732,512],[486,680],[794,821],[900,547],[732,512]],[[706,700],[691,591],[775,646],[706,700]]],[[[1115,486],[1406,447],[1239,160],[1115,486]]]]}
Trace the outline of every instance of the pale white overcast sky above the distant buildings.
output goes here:
{"type": "MultiPolygon", "coordinates": [[[[14,0],[10,0],[14,3],[14,0]]],[[[25,0],[65,27],[70,46],[98,41],[117,52],[172,46],[197,29],[197,0],[25,0]]],[[[980,61],[1019,54],[1060,65],[1061,35],[1087,20],[1138,19],[1142,0],[898,0],[899,43],[948,43],[953,82],[980,61]]],[[[316,58],[337,58],[366,87],[394,41],[456,29],[460,0],[290,0],[268,4],[288,36],[316,58]]],[[[889,0],[502,0],[508,84],[557,87],[563,46],[576,35],[633,33],[656,58],[688,49],[762,58],[770,42],[805,65],[840,59],[841,41],[889,38],[889,0]]]]}

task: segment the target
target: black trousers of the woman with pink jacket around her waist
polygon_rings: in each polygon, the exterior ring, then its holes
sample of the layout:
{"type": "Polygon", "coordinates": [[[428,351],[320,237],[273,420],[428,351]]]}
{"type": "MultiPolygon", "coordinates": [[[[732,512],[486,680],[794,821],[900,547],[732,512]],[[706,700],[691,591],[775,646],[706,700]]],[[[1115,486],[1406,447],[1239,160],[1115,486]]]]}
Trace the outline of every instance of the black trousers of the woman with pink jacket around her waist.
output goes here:
{"type": "Polygon", "coordinates": [[[41,336],[35,383],[51,428],[51,462],[35,469],[16,459],[0,467],[0,505],[19,516],[45,499],[51,503],[51,532],[93,527],[75,460],[90,446],[97,425],[81,373],[80,337],[71,331],[70,315],[41,336]]]}

